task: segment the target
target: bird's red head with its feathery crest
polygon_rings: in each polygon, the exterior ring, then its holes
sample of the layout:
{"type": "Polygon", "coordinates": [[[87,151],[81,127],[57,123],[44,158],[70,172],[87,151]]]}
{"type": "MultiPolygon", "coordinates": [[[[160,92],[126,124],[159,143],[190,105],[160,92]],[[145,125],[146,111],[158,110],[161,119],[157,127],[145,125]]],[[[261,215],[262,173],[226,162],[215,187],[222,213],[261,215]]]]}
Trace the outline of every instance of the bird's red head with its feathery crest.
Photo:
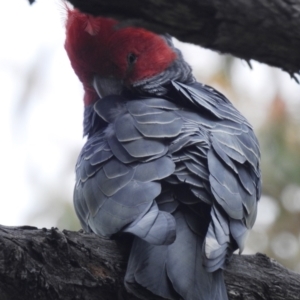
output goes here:
{"type": "Polygon", "coordinates": [[[97,75],[116,78],[130,87],[167,69],[177,54],[166,40],[136,27],[120,27],[113,19],[68,10],[65,49],[83,83],[85,105],[97,100],[97,75]]]}

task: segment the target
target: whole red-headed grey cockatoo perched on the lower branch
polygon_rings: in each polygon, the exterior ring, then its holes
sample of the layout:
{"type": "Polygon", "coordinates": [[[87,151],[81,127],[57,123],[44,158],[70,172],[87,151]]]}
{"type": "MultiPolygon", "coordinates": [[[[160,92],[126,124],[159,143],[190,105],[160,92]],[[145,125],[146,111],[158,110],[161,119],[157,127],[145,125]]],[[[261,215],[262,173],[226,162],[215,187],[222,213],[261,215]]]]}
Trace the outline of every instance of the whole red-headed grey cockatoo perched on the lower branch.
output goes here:
{"type": "Polygon", "coordinates": [[[83,229],[134,235],[125,286],[138,296],[137,286],[228,299],[222,269],[243,250],[260,198],[251,125],[196,82],[168,35],[69,9],[65,49],[85,91],[74,190],[83,229]]]}

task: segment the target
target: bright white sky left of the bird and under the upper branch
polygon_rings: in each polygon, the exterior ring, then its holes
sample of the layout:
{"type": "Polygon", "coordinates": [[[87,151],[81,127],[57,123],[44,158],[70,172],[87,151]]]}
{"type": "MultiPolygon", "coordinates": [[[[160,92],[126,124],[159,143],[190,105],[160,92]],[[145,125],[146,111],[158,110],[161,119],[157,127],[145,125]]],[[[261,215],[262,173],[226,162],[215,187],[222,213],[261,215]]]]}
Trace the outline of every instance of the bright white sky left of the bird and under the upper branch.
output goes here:
{"type": "MultiPolygon", "coordinates": [[[[28,213],[42,205],[42,197],[39,202],[36,195],[45,182],[63,187],[72,198],[75,176],[61,179],[57,174],[83,144],[83,92],[63,48],[63,15],[59,1],[37,0],[32,6],[26,0],[0,2],[0,223],[4,225],[24,225],[28,213]],[[29,103],[22,106],[20,95],[30,84],[34,65],[39,73],[29,103]]],[[[218,68],[218,54],[192,45],[181,47],[194,68],[205,70],[203,80],[218,68]]],[[[238,105],[255,127],[277,92],[270,77],[277,78],[291,107],[299,108],[300,87],[287,74],[256,62],[253,67],[237,61],[232,72],[235,93],[244,100],[238,105]],[[245,105],[248,100],[251,105],[245,105]]],[[[49,227],[51,221],[31,225],[49,227]]]]}

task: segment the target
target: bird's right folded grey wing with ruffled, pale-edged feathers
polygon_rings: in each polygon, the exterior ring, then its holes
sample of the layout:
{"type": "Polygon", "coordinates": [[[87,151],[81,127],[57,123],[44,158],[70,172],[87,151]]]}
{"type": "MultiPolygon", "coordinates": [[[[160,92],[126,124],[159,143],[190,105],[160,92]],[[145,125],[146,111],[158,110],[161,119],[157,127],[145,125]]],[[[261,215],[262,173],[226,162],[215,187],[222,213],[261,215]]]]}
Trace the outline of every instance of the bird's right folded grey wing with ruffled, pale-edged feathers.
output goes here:
{"type": "Polygon", "coordinates": [[[261,189],[258,141],[246,119],[214,89],[177,82],[173,86],[179,97],[195,107],[195,112],[177,112],[189,125],[187,131],[199,130],[173,153],[184,165],[175,175],[211,206],[202,251],[206,268],[214,271],[237,247],[242,251],[254,224],[261,189]]]}

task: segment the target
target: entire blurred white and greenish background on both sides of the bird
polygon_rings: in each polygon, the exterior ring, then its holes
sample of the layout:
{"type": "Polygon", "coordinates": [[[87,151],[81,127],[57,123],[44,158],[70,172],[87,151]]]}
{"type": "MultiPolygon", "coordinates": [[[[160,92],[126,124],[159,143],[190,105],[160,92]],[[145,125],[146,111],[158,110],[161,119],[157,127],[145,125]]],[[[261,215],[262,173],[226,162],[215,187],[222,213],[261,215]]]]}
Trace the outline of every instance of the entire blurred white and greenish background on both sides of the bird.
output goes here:
{"type": "MultiPolygon", "coordinates": [[[[0,224],[78,230],[72,195],[83,91],[64,51],[60,1],[0,2],[0,224]]],[[[244,253],[300,272],[300,85],[281,70],[175,41],[198,80],[248,118],[263,196],[244,253]]]]}

